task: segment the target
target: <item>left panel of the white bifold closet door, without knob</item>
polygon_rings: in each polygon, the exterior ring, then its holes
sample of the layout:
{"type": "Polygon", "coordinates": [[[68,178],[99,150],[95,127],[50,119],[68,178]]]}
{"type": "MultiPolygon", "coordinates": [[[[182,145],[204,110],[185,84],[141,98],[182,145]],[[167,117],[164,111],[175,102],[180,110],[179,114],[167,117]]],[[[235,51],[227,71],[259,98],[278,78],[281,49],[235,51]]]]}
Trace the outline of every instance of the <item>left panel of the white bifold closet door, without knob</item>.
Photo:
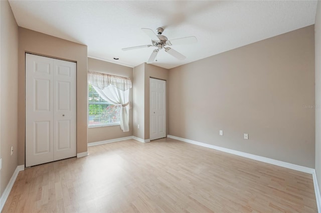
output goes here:
{"type": "Polygon", "coordinates": [[[53,149],[54,60],[26,54],[26,166],[50,162],[53,149]]]}

